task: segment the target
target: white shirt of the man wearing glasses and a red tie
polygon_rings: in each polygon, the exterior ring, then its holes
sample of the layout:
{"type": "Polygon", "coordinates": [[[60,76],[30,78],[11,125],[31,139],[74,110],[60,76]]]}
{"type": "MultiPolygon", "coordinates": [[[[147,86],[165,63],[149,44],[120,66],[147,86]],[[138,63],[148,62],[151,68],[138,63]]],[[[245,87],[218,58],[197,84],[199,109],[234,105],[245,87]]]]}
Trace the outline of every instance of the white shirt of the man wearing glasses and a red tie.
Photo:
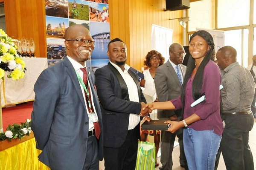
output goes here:
{"type": "MultiPolygon", "coordinates": [[[[83,72],[82,72],[82,70],[81,70],[81,68],[84,68],[84,67],[86,67],[86,62],[84,62],[84,66],[83,65],[81,65],[80,63],[78,63],[77,61],[75,61],[73,58],[71,58],[71,57],[69,57],[69,56],[67,56],[67,58],[69,59],[69,61],[70,61],[70,63],[72,64],[72,66],[74,67],[74,69],[76,70],[76,72],[79,74],[79,76],[81,77],[81,78],[83,78],[83,72]]],[[[89,74],[89,70],[87,70],[87,73],[89,74]]],[[[88,81],[89,82],[89,81],[88,81]]],[[[81,83],[79,83],[80,84],[80,88],[81,88],[81,91],[82,91],[82,93],[83,93],[83,97],[84,97],[84,103],[85,103],[85,106],[86,106],[86,111],[87,111],[87,115],[88,115],[88,118],[89,118],[89,111],[88,111],[88,107],[87,107],[87,101],[86,101],[86,99],[85,99],[85,93],[84,93],[84,88],[83,88],[83,86],[81,85],[81,83]]],[[[94,87],[92,87],[91,86],[91,84],[90,84],[90,88],[92,89],[92,88],[94,88],[94,87]]],[[[93,103],[93,95],[91,95],[91,101],[92,101],[92,107],[93,107],[93,110],[94,110],[94,112],[96,113],[96,116],[98,117],[98,115],[97,115],[97,112],[96,112],[96,109],[95,109],[95,107],[94,107],[94,103],[93,103]]],[[[89,119],[89,131],[90,130],[93,130],[94,129],[94,125],[93,125],[93,123],[90,121],[90,119],[89,119]]]]}

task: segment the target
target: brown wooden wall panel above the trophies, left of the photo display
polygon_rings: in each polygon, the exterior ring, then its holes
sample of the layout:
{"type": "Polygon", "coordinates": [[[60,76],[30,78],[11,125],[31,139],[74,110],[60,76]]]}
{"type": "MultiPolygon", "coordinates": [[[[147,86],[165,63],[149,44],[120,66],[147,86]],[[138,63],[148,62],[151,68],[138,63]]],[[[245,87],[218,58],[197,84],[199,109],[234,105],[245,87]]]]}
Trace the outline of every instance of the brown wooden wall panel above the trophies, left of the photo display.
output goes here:
{"type": "Polygon", "coordinates": [[[32,38],[35,56],[47,57],[44,0],[4,0],[4,8],[9,37],[32,38]]]}

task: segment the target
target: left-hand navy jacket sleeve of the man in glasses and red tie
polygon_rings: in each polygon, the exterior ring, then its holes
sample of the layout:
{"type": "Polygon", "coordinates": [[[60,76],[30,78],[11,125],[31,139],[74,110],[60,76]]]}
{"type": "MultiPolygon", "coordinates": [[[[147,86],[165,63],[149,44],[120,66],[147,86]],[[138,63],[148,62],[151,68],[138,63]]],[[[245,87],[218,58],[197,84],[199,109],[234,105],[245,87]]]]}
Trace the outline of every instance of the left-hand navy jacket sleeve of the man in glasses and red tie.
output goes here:
{"type": "Polygon", "coordinates": [[[37,148],[43,150],[49,139],[55,105],[60,96],[58,78],[54,72],[42,72],[35,83],[34,91],[31,128],[37,140],[37,148]]]}

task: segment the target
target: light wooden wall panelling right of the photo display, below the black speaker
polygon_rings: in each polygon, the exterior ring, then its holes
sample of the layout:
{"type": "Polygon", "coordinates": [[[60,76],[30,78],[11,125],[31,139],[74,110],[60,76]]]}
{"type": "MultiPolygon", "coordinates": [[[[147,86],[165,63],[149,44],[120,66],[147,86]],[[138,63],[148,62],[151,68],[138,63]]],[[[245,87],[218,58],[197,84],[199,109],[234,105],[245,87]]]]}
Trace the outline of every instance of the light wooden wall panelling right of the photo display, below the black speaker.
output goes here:
{"type": "Polygon", "coordinates": [[[164,12],[165,0],[108,0],[111,39],[119,37],[128,48],[127,64],[141,70],[151,49],[151,24],[173,30],[172,42],[183,45],[183,27],[177,20],[183,11],[164,12]]]}

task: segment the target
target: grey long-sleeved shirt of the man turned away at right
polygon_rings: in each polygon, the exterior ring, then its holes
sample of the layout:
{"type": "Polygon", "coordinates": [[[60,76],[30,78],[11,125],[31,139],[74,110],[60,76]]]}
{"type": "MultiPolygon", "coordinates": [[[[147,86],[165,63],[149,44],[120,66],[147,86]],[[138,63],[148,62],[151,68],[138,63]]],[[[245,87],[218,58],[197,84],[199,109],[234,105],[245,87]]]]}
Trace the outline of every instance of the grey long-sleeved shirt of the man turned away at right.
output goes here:
{"type": "Polygon", "coordinates": [[[251,108],[255,84],[248,69],[238,62],[230,64],[224,69],[221,84],[223,112],[242,112],[251,108]]]}

